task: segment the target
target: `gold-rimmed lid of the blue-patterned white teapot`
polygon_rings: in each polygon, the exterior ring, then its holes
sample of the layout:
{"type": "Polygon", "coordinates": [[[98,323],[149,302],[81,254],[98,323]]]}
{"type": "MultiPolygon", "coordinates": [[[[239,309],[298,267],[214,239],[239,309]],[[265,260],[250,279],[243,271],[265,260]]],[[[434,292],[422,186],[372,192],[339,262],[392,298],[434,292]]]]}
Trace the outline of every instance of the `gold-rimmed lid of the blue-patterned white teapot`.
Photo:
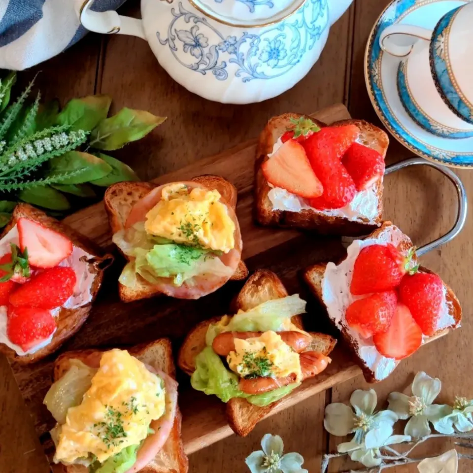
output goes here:
{"type": "Polygon", "coordinates": [[[306,0],[189,0],[206,17],[235,27],[261,27],[288,17],[306,0]]]}

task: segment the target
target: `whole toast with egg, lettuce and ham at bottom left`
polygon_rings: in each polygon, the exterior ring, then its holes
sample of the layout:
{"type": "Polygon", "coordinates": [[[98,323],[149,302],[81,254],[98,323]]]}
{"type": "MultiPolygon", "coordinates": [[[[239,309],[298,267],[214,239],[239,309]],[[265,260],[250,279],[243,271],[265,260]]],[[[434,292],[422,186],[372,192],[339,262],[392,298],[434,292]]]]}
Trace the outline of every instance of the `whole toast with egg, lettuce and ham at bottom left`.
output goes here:
{"type": "Polygon", "coordinates": [[[67,473],[186,473],[171,344],[62,354],[44,404],[67,473]]]}

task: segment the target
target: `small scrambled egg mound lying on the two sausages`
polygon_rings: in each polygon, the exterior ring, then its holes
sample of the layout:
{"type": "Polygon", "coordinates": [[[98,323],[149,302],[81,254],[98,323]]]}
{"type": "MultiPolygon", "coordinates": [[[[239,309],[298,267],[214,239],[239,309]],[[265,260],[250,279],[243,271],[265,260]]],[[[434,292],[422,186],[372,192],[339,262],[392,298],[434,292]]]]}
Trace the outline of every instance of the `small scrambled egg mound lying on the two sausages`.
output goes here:
{"type": "Polygon", "coordinates": [[[268,331],[260,337],[235,339],[235,351],[227,356],[230,369],[240,376],[283,378],[295,373],[302,380],[299,354],[282,341],[276,332],[268,331]]]}

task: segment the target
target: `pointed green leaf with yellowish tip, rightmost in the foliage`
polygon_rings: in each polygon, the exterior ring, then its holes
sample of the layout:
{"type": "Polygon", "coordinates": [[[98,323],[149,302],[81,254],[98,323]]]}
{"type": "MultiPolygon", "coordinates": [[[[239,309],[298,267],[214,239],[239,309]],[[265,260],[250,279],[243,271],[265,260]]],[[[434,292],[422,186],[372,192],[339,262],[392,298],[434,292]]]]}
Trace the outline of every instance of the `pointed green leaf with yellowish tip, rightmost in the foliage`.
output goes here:
{"type": "Polygon", "coordinates": [[[118,149],[146,136],[165,120],[166,117],[156,117],[144,110],[125,107],[103,120],[92,131],[90,145],[108,151],[118,149]]]}

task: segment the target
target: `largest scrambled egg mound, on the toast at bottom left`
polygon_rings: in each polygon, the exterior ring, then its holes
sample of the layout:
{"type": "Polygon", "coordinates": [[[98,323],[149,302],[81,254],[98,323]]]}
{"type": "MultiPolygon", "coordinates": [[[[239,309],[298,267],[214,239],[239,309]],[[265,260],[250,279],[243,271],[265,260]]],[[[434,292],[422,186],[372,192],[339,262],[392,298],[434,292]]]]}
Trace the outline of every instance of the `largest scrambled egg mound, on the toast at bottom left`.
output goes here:
{"type": "Polygon", "coordinates": [[[107,351],[82,403],[68,409],[54,460],[67,464],[93,454],[102,463],[145,439],[164,411],[161,378],[128,351],[107,351]]]}

